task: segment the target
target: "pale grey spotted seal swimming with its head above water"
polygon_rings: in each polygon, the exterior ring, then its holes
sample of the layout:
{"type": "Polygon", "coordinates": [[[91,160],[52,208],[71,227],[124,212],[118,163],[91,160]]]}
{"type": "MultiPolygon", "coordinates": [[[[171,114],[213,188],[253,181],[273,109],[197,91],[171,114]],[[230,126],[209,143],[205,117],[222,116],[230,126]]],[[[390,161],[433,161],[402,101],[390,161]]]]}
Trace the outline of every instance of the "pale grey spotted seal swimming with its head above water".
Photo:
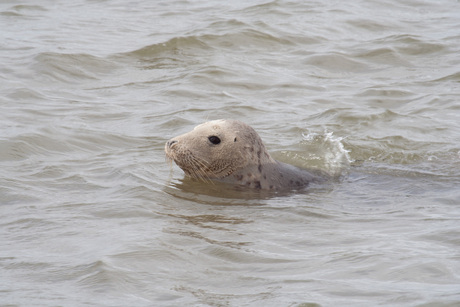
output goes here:
{"type": "Polygon", "coordinates": [[[276,161],[249,125],[231,119],[205,122],[165,144],[166,157],[187,176],[262,190],[301,189],[321,178],[276,161]]]}

